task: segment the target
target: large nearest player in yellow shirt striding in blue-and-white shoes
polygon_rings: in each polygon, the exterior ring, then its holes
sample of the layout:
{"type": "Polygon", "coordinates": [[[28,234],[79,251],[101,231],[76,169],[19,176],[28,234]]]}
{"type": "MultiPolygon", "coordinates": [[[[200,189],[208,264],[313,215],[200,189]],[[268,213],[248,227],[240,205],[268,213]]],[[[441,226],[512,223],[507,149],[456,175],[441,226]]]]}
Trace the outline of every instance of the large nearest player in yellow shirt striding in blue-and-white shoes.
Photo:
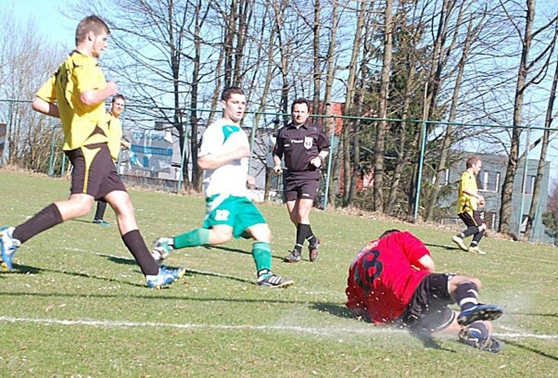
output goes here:
{"type": "Polygon", "coordinates": [[[96,15],[85,17],[75,31],[76,49],[43,84],[33,99],[37,112],[60,118],[63,151],[73,164],[70,198],[54,202],[17,227],[0,228],[3,269],[13,269],[17,248],[40,232],[89,213],[95,199],[104,199],[116,213],[122,240],[144,273],[147,285],[160,288],[184,274],[184,269],[160,268],[137,229],[134,209],[108,148],[105,100],[118,91],[106,82],[97,59],[107,47],[107,24],[96,15]]]}

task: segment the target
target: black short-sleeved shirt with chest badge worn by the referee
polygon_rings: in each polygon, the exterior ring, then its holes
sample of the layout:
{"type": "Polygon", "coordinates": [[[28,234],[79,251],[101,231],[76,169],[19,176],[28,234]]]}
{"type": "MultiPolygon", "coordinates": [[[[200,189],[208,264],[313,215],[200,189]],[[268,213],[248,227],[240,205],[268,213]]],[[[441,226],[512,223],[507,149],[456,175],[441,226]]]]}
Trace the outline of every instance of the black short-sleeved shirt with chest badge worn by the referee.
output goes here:
{"type": "Polygon", "coordinates": [[[327,149],[329,140],[322,128],[310,122],[299,128],[289,123],[279,129],[273,155],[285,156],[285,167],[289,172],[308,172],[297,174],[300,178],[319,179],[319,169],[311,165],[310,160],[318,156],[319,151],[327,149]]]}

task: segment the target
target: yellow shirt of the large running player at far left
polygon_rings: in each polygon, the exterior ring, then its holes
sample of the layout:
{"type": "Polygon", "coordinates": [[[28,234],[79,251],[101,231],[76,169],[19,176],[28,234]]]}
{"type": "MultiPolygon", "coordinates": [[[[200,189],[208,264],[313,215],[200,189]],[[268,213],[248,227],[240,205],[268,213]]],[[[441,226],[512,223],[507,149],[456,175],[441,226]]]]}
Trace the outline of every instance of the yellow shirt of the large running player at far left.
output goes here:
{"type": "Polygon", "coordinates": [[[58,104],[64,132],[62,149],[73,150],[93,143],[107,142],[105,103],[85,105],[81,93],[105,89],[105,75],[95,58],[74,51],[41,86],[37,97],[58,104]],[[96,127],[100,130],[96,130],[96,127]],[[104,133],[104,135],[103,135],[104,133]]]}

